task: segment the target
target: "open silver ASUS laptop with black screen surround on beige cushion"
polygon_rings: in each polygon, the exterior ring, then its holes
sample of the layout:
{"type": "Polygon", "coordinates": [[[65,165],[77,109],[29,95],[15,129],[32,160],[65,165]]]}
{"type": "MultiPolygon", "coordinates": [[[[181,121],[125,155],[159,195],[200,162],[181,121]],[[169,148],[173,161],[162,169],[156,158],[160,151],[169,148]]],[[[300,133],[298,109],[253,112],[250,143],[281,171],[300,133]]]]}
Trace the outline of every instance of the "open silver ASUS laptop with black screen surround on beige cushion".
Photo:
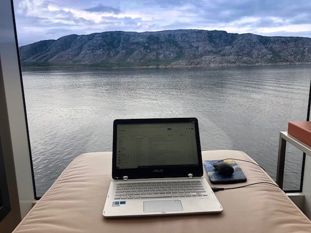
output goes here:
{"type": "Polygon", "coordinates": [[[196,118],[117,119],[103,216],[219,213],[203,176],[196,118]]]}

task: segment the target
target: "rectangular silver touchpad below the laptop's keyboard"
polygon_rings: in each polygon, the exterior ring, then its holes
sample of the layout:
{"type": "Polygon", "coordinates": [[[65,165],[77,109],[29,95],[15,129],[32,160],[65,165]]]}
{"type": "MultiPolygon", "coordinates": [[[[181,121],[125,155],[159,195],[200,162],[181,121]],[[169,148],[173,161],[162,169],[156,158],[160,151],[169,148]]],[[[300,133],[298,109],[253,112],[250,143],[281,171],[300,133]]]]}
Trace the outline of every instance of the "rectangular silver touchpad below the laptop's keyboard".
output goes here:
{"type": "Polygon", "coordinates": [[[180,200],[145,200],[144,212],[182,211],[180,200]]]}

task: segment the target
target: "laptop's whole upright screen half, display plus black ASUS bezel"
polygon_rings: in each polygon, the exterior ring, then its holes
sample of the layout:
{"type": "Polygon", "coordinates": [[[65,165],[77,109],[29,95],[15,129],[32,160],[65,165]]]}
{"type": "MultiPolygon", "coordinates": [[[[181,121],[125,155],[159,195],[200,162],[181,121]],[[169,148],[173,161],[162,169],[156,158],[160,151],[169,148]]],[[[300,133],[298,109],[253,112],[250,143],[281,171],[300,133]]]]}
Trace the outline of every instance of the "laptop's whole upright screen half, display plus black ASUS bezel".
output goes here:
{"type": "Polygon", "coordinates": [[[113,178],[203,175],[196,118],[114,121],[113,178]]]}

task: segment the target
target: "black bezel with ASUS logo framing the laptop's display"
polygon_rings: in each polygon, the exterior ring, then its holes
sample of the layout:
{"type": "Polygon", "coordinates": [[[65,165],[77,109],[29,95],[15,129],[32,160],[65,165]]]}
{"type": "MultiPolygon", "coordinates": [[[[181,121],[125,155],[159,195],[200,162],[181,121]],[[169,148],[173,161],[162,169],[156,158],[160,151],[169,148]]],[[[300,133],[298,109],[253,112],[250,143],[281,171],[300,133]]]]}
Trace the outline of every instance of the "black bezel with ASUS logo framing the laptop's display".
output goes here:
{"type": "Polygon", "coordinates": [[[193,177],[203,176],[202,152],[200,144],[198,119],[195,117],[187,118],[146,118],[146,119],[116,119],[113,122],[113,145],[112,145],[112,178],[122,180],[124,176],[128,179],[146,178],[176,178],[188,177],[191,173],[193,177]],[[152,166],[146,168],[117,168],[117,127],[120,124],[146,124],[146,123],[184,123],[193,122],[195,128],[196,148],[198,163],[192,166],[152,166]],[[161,172],[155,172],[161,171],[161,172]]]}

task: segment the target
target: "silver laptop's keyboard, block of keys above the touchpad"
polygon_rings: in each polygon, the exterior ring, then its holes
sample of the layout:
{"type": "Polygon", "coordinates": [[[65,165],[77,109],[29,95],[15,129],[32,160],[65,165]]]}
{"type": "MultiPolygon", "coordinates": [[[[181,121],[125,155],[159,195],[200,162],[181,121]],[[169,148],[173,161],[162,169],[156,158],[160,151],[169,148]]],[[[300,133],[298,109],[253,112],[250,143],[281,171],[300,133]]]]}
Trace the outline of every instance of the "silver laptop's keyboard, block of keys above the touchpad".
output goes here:
{"type": "Polygon", "coordinates": [[[114,199],[143,199],[207,196],[199,180],[117,183],[114,199]]]}

